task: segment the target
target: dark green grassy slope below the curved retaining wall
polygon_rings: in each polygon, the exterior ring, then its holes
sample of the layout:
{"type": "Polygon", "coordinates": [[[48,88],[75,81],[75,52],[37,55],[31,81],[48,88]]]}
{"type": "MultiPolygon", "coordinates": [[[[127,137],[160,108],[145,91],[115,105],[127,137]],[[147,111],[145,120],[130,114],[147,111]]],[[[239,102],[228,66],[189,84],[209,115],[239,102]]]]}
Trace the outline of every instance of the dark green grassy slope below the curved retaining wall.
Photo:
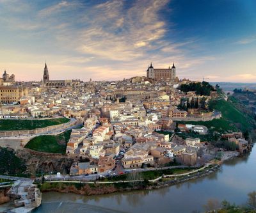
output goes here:
{"type": "Polygon", "coordinates": [[[67,130],[58,136],[37,136],[31,139],[25,146],[38,152],[65,154],[71,130],[67,130]]]}

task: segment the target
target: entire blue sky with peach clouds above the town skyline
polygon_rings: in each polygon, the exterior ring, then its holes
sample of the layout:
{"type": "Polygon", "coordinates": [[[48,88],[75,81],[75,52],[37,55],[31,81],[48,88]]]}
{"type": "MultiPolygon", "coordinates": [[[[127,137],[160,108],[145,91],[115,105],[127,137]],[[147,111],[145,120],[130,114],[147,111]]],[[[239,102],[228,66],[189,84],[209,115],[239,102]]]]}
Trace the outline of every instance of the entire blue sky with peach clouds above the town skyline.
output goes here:
{"type": "Polygon", "coordinates": [[[179,78],[256,82],[255,0],[0,0],[0,73],[122,80],[175,63],[179,78]]]}

